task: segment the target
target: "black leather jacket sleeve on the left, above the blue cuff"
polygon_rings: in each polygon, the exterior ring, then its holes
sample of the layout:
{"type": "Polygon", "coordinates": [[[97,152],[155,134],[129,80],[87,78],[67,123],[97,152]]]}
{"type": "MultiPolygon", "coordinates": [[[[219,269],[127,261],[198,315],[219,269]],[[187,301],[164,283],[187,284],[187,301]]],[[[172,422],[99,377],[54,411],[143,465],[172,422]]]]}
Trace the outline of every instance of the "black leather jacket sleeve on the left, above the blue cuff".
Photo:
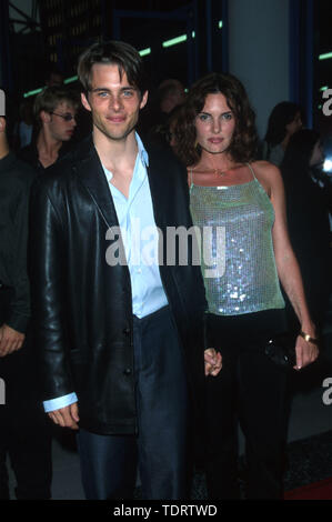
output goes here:
{"type": "Polygon", "coordinates": [[[29,274],[33,341],[38,351],[43,400],[73,391],[66,332],[64,234],[60,213],[52,202],[48,180],[32,185],[30,201],[29,274]],[[52,375],[52,379],[50,379],[52,375]]]}

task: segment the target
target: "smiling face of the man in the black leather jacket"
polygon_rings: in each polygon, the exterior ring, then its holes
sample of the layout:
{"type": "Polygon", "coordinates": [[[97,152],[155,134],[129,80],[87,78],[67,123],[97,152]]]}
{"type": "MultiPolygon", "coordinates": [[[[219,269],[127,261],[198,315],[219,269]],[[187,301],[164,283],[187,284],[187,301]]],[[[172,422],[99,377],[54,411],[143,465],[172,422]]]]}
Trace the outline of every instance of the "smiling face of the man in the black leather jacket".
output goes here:
{"type": "Polygon", "coordinates": [[[120,78],[117,64],[95,63],[92,67],[91,90],[82,94],[82,103],[92,113],[95,135],[112,141],[123,141],[135,128],[140,109],[148,100],[148,92],[140,92],[129,84],[125,72],[120,78]]]}

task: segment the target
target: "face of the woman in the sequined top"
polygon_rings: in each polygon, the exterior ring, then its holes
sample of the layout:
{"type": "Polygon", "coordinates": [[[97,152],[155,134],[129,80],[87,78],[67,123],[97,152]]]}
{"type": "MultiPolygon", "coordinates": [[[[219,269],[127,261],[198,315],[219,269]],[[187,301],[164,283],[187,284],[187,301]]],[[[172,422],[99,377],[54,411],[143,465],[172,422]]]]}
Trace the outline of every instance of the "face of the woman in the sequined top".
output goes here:
{"type": "Polygon", "coordinates": [[[224,152],[232,143],[235,118],[221,93],[208,94],[204,107],[195,117],[197,141],[212,154],[224,152]]]}

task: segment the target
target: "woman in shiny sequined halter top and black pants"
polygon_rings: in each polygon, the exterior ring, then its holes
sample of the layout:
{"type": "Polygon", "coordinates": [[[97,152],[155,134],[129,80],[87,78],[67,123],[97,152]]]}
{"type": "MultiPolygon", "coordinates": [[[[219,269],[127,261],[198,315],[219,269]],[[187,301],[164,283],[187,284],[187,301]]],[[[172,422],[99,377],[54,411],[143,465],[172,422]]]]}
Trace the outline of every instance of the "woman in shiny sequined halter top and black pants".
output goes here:
{"type": "Polygon", "coordinates": [[[222,354],[221,372],[207,380],[209,496],[239,498],[239,416],[247,442],[247,496],[278,499],[286,372],[263,353],[263,347],[286,329],[279,279],[305,332],[296,338],[295,368],[318,357],[315,328],[288,237],[282,179],[276,167],[254,161],[254,114],[232,76],[211,73],[191,88],[177,140],[188,165],[193,222],[202,231],[214,230],[208,253],[221,265],[214,277],[209,263],[202,265],[209,345],[222,354]],[[219,234],[224,243],[215,241],[217,230],[224,232],[219,234]]]}

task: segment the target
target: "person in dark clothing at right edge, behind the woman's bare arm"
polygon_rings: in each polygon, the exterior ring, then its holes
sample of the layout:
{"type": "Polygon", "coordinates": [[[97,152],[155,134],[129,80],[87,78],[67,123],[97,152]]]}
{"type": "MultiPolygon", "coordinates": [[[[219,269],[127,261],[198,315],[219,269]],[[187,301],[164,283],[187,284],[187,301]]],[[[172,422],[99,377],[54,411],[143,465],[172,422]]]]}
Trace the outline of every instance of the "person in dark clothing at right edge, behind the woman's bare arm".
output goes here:
{"type": "MultiPolygon", "coordinates": [[[[281,164],[288,201],[291,242],[299,260],[310,313],[322,328],[331,293],[331,232],[329,210],[332,185],[322,171],[320,134],[311,129],[295,132],[281,164]]],[[[296,318],[290,310],[290,320],[296,318]]]]}

